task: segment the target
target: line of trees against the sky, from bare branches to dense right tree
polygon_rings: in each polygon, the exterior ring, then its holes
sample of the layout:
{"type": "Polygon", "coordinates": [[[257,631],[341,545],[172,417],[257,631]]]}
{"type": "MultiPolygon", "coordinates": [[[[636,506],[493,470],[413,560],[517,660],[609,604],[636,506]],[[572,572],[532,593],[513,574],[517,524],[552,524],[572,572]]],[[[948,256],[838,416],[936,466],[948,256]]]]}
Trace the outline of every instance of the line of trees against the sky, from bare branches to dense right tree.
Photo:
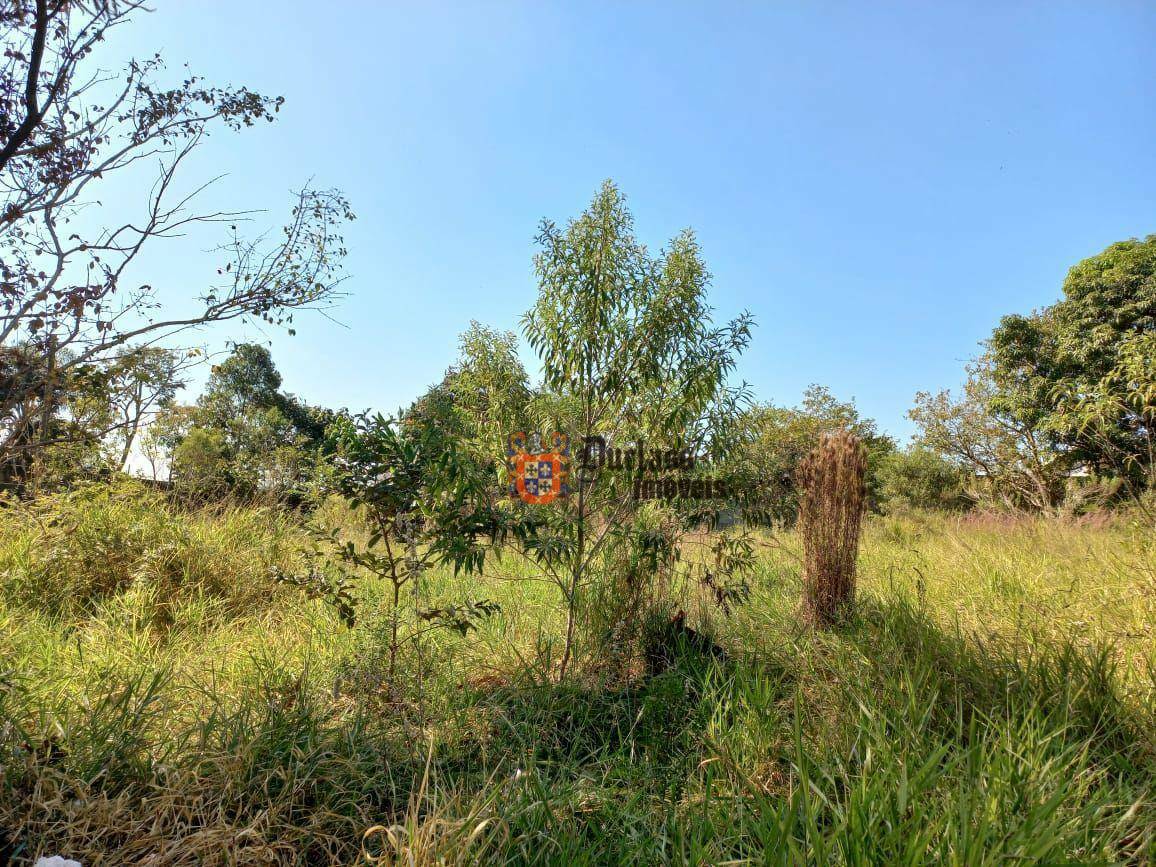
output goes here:
{"type": "MultiPolygon", "coordinates": [[[[333,303],[353,213],[339,192],[304,188],[271,242],[242,232],[249,212],[197,209],[205,185],[176,193],[210,134],[271,123],[283,98],[170,80],[160,55],[103,69],[108,34],[141,12],[133,0],[0,10],[0,486],[27,494],[147,461],[194,498],[299,502],[325,489],[336,414],[280,391],[255,344],[235,347],[180,403],[202,355],[171,347],[231,320],[291,332],[297,310],[333,303]],[[113,177],[148,192],[136,213],[94,227],[81,214],[113,177]],[[161,305],[134,262],[194,227],[222,231],[212,279],[183,307],[161,305]]],[[[728,442],[732,454],[741,444],[728,472],[761,491],[764,517],[790,520],[799,461],[823,431],[846,429],[866,447],[874,510],[1151,499],[1156,236],[1111,245],[1072,268],[1055,304],[1005,317],[961,391],[916,397],[918,433],[903,449],[821,386],[794,407],[732,387],[753,319],[706,325],[694,235],[650,255],[613,185],[566,227],[544,221],[538,240],[542,295],[523,332],[543,381],[531,385],[512,333],[474,324],[443,381],[405,413],[475,460],[531,423],[585,435],[613,417],[620,437],[657,430],[703,449],[728,442]]]]}

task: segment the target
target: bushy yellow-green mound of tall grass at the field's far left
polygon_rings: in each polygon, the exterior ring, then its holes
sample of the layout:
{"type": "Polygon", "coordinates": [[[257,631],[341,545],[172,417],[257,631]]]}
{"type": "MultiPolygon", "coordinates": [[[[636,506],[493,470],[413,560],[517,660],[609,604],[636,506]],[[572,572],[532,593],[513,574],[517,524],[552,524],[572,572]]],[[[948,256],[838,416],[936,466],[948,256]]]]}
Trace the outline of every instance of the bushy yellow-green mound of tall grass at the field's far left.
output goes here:
{"type": "Polygon", "coordinates": [[[0,521],[0,594],[65,617],[126,594],[165,622],[191,601],[236,614],[267,603],[269,570],[296,556],[296,528],[273,509],[178,512],[133,483],[94,484],[9,504],[0,521]]]}

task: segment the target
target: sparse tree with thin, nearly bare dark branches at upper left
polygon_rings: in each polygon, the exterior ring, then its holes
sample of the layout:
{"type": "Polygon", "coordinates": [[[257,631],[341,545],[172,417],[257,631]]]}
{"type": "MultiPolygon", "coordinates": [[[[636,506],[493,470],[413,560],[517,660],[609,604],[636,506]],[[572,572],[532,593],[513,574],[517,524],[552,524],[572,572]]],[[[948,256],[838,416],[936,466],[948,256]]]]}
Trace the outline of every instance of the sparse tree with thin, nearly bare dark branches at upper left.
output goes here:
{"type": "Polygon", "coordinates": [[[0,9],[0,354],[9,361],[0,384],[0,461],[6,465],[27,465],[52,445],[50,425],[37,420],[52,412],[55,392],[124,347],[238,318],[290,325],[295,310],[336,295],[341,224],[353,217],[339,193],[298,193],[280,240],[266,243],[237,232],[243,213],[193,210],[203,186],[176,192],[181,165],[213,129],[271,121],[282,99],[212,87],[197,76],[163,87],[160,55],[131,61],[120,76],[96,68],[109,31],[143,10],[133,0],[10,0],[0,9]],[[148,165],[157,166],[151,185],[140,176],[148,165]],[[81,212],[116,176],[147,191],[140,213],[88,228],[92,223],[81,212]],[[188,309],[157,312],[156,288],[131,276],[141,251],[217,222],[231,227],[218,250],[218,280],[188,309]],[[16,361],[28,356],[43,362],[16,361]]]}

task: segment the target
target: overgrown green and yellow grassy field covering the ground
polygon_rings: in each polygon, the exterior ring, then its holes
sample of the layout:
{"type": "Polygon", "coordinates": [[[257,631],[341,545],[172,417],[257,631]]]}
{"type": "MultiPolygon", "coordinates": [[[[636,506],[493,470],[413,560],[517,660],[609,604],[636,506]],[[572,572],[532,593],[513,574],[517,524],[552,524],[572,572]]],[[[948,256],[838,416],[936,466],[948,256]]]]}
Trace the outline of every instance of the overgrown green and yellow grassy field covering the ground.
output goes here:
{"type": "Polygon", "coordinates": [[[0,513],[0,862],[1156,861],[1156,539],[1125,519],[872,519],[828,633],[768,540],[734,615],[682,599],[729,662],[652,679],[553,683],[550,586],[437,575],[503,612],[424,644],[406,703],[384,588],[348,629],[272,580],[303,539],[131,489],[0,513]]]}

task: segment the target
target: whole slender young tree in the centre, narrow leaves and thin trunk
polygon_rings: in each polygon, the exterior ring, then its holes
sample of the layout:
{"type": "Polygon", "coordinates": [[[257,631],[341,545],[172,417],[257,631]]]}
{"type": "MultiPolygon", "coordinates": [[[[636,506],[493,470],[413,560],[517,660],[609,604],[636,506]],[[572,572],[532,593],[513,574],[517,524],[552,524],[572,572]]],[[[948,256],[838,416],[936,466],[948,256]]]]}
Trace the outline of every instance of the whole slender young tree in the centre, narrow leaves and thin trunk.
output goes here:
{"type": "MultiPolygon", "coordinates": [[[[576,447],[601,436],[609,445],[645,442],[698,451],[732,407],[726,385],[750,340],[743,314],[716,326],[706,304],[710,275],[689,230],[651,255],[613,183],[565,228],[543,221],[534,259],[539,297],[523,318],[542,362],[541,423],[568,431],[576,447]]],[[[576,461],[580,462],[579,461],[576,461]]],[[[557,583],[566,608],[560,676],[573,654],[579,596],[603,549],[632,536],[630,479],[579,469],[576,492],[536,511],[521,527],[526,549],[557,583]]],[[[673,546],[666,546],[673,550],[673,546]]]]}

